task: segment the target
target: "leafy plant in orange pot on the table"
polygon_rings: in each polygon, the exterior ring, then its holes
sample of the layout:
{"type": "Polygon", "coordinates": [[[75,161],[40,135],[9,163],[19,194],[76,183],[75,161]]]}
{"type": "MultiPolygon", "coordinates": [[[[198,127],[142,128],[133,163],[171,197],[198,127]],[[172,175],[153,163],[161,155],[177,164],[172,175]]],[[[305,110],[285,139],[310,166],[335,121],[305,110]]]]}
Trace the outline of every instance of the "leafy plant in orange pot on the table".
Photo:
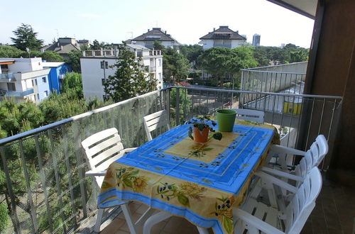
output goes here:
{"type": "Polygon", "coordinates": [[[216,140],[221,140],[222,139],[222,133],[215,133],[216,130],[214,130],[211,126],[209,126],[209,122],[212,124],[212,126],[216,126],[217,123],[215,121],[212,121],[209,116],[202,116],[199,118],[192,118],[190,121],[187,121],[188,124],[191,124],[189,128],[189,137],[192,140],[195,140],[197,143],[205,143],[208,140],[208,135],[209,131],[213,133],[212,138],[216,140]],[[194,131],[194,136],[192,136],[192,127],[194,131]]]}

